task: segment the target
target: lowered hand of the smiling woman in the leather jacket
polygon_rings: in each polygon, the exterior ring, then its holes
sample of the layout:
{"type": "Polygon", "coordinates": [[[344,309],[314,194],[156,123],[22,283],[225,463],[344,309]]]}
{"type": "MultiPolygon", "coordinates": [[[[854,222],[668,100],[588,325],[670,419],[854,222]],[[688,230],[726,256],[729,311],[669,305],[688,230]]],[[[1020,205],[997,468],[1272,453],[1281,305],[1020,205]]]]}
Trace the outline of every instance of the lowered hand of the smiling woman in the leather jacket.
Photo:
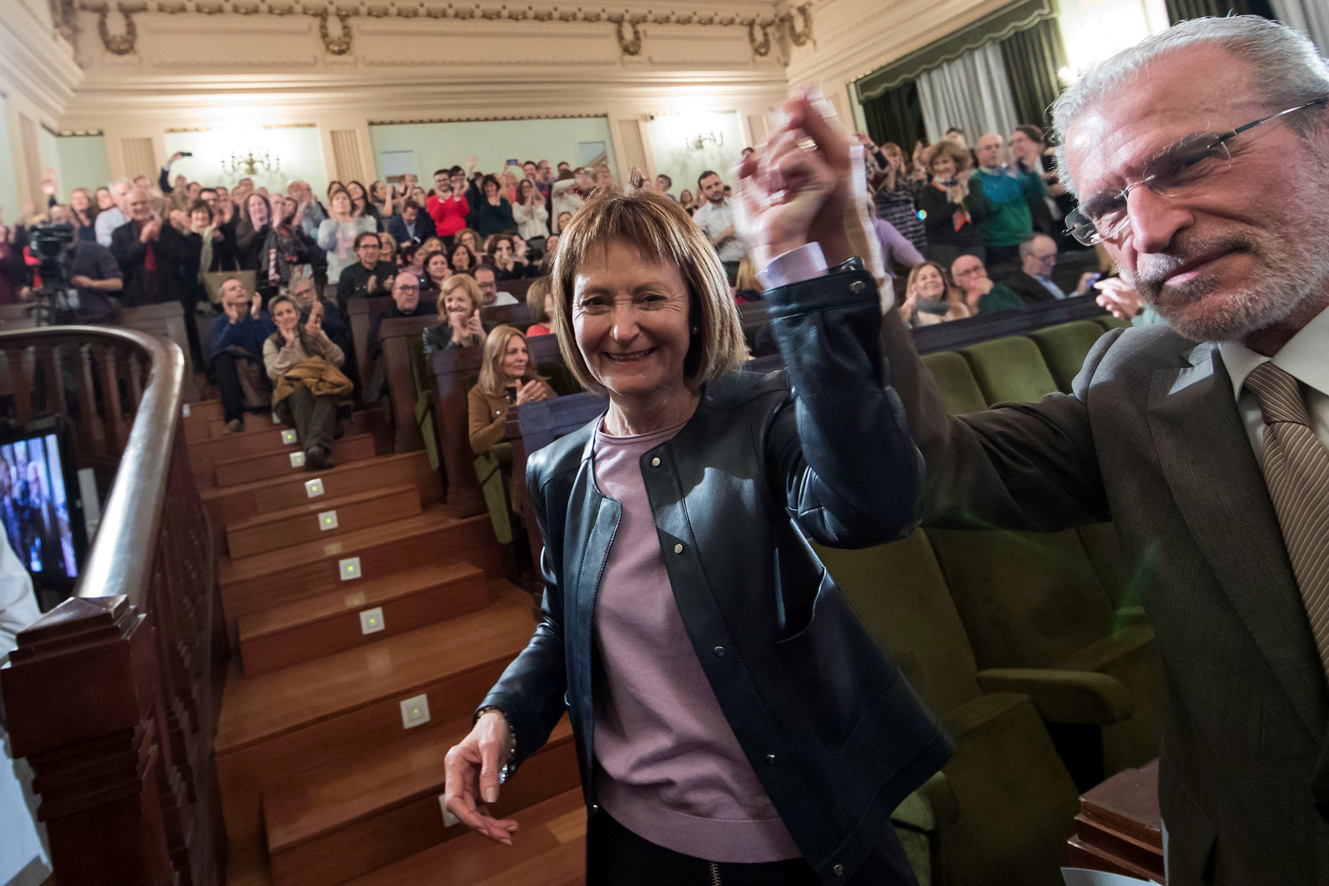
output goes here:
{"type": "Polygon", "coordinates": [[[443,761],[444,808],[470,830],[505,846],[512,846],[517,822],[493,818],[489,804],[498,802],[498,772],[510,751],[509,736],[508,719],[486,711],[443,761]]]}

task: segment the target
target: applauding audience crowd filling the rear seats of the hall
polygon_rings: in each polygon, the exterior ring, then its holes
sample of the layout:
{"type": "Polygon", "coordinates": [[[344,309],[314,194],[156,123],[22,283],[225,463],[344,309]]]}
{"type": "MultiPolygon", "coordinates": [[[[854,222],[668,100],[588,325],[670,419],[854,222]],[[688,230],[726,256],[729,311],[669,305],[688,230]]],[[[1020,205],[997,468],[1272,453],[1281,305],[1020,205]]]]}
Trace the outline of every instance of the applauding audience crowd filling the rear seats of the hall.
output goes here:
{"type": "MultiPolygon", "coordinates": [[[[1009,138],[986,134],[973,149],[964,132],[952,129],[934,145],[916,145],[912,155],[864,134],[859,141],[886,274],[906,275],[897,308],[909,323],[1019,310],[1071,294],[1053,271],[1059,250],[1082,248],[1063,231],[1074,202],[1037,126],[1018,126],[1009,138]]],[[[436,170],[428,190],[404,175],[368,187],[335,181],[324,194],[292,181],[275,193],[250,178],[227,189],[173,177],[181,157],[167,161],[155,183],[140,177],[92,193],[78,187],[62,203],[48,177],[48,207],[25,224],[0,224],[0,304],[31,299],[41,284],[32,226],[69,224],[74,239],[57,321],[114,323],[121,307],[162,302],[215,315],[207,369],[221,391],[227,429],[243,429],[245,413],[254,410],[302,425],[302,438],[308,425],[311,465],[327,458],[335,433],[328,414],[335,410],[304,393],[274,395],[288,387],[283,380],[294,367],[311,363],[323,363],[331,377],[342,376],[338,367],[350,361],[342,380],[351,384],[352,300],[393,302],[372,317],[371,360],[379,356],[379,327],[393,317],[437,315],[440,324],[425,332],[427,351],[486,344],[480,310],[517,304],[509,287],[526,295],[536,321],[528,335],[548,335],[549,287],[532,286],[532,279],[549,272],[560,231],[595,189],[617,186],[603,163],[573,167],[541,159],[484,173],[472,157],[465,167],[436,170]]],[[[735,299],[759,300],[762,286],[735,230],[730,186],[714,170],[695,185],[675,194],[668,175],[645,179],[634,169],[626,187],[679,201],[715,246],[735,299]]],[[[1094,283],[1084,274],[1073,291],[1083,295],[1094,283]]],[[[186,327],[193,335],[194,324],[186,327]]],[[[198,363],[202,345],[191,337],[198,363]]],[[[497,359],[500,345],[493,347],[486,365],[497,359]]],[[[504,341],[501,349],[506,347],[504,341]]],[[[384,381],[376,367],[361,399],[380,396],[384,381]]],[[[512,388],[489,384],[485,397],[496,402],[512,388]]],[[[306,389],[312,385],[296,385],[306,389]]],[[[533,396],[522,393],[524,385],[516,389],[514,402],[533,396]]],[[[489,408],[496,409],[493,402],[489,408]]]]}

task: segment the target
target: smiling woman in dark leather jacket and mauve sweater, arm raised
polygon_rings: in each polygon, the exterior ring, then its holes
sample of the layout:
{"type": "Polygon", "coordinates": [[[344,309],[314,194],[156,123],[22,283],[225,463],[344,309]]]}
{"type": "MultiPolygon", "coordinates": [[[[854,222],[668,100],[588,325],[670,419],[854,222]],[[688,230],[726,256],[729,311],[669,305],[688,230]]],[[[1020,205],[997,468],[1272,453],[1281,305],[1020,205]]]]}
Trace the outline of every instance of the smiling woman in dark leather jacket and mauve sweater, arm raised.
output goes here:
{"type": "Polygon", "coordinates": [[[593,886],[914,883],[890,812],[949,745],[808,545],[901,538],[922,487],[820,104],[785,104],[735,193],[785,369],[739,369],[724,268],[666,195],[603,189],[558,244],[558,344],[607,410],[528,461],[544,618],[444,802],[510,843],[490,804],[566,711],[593,886]]]}

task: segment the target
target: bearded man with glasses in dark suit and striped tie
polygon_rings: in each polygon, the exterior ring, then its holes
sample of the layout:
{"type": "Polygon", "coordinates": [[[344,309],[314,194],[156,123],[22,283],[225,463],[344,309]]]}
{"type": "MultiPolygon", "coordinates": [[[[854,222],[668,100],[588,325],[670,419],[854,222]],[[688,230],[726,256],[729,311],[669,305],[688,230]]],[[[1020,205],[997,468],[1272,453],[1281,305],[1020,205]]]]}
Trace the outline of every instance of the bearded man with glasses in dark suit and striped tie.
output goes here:
{"type": "Polygon", "coordinates": [[[1329,883],[1329,68],[1302,35],[1197,19],[1055,106],[1067,218],[1168,325],[1103,336],[1073,395],[946,414],[884,347],[925,522],[1114,519],[1163,659],[1170,886],[1329,883]]]}

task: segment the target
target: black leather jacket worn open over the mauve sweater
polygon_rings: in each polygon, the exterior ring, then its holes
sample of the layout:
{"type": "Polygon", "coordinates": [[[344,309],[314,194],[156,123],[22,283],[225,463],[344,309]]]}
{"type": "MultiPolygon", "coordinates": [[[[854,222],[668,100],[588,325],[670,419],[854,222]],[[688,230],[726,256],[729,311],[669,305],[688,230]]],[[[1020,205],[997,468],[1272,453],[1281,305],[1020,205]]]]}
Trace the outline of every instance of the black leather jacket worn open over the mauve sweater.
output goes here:
{"type": "MultiPolygon", "coordinates": [[[[692,418],[641,465],[674,599],[715,697],[799,849],[836,883],[950,744],[805,539],[864,547],[909,533],[922,460],[884,385],[872,276],[839,271],[767,302],[788,368],[711,383],[692,418]]],[[[595,594],[621,513],[594,482],[598,421],[529,461],[544,620],[482,703],[508,717],[516,765],[569,709],[591,814],[595,594]]]]}

